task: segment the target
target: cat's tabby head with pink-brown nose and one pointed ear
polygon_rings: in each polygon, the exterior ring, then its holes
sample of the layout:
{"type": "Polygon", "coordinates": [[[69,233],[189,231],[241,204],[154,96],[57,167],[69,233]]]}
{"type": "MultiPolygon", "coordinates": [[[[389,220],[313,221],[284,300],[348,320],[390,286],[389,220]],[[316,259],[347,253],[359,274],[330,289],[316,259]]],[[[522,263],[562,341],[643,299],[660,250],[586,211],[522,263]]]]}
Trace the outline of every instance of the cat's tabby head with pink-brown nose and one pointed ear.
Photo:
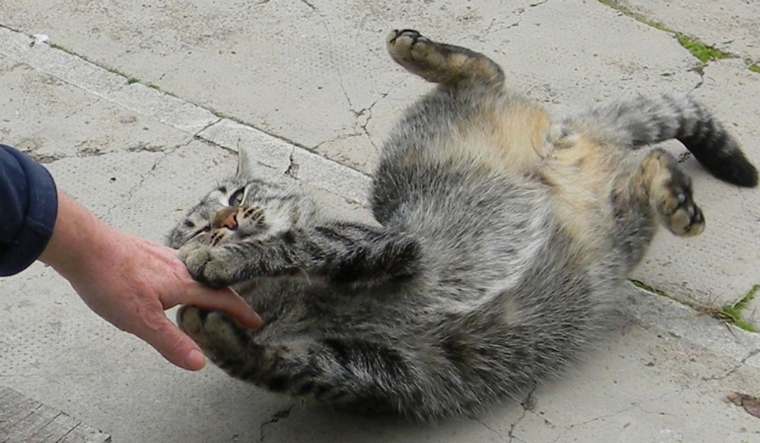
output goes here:
{"type": "Polygon", "coordinates": [[[214,245],[266,239],[298,225],[314,211],[309,198],[257,176],[252,156],[239,148],[236,174],[219,182],[188,210],[169,233],[169,246],[179,248],[191,239],[214,245]]]}

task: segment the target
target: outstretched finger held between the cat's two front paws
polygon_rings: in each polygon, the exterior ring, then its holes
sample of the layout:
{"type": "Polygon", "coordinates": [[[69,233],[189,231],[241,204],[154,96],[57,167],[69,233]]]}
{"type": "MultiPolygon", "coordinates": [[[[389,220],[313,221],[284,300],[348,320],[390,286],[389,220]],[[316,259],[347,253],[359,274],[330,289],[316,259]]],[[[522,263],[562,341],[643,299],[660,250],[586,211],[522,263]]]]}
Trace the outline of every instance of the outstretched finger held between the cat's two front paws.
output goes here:
{"type": "Polygon", "coordinates": [[[261,317],[232,288],[212,290],[201,283],[194,283],[186,296],[185,304],[226,312],[243,328],[255,329],[261,326],[261,317]]]}

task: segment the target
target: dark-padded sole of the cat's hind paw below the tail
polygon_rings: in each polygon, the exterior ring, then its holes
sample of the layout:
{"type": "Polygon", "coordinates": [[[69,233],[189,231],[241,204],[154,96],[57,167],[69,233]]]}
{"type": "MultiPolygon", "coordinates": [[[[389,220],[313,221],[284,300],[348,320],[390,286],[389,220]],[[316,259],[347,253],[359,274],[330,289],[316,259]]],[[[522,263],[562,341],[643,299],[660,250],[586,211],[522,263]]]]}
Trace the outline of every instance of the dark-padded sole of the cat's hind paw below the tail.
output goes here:
{"type": "Polygon", "coordinates": [[[688,182],[674,177],[659,196],[660,217],[676,236],[696,236],[705,230],[705,216],[694,203],[688,182]]]}

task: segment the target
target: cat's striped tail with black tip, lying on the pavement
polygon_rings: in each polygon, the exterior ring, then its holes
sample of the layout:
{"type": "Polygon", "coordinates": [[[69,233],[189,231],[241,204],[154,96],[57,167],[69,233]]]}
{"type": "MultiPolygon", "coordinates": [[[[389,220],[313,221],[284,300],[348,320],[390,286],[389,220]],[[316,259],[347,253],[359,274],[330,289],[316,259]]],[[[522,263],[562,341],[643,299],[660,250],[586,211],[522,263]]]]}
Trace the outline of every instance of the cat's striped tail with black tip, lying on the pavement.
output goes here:
{"type": "Polygon", "coordinates": [[[577,124],[634,149],[675,138],[718,179],[748,188],[758,184],[758,171],[739,143],[688,95],[637,97],[597,106],[571,120],[571,125],[577,124]]]}

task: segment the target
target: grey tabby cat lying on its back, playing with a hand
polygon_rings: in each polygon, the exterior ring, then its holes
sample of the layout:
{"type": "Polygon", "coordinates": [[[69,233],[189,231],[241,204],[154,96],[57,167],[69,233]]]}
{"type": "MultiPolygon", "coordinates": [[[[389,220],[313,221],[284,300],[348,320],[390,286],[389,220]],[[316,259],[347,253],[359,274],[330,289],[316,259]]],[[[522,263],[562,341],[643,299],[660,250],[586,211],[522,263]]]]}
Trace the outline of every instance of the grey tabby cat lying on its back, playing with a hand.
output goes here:
{"type": "Polygon", "coordinates": [[[675,138],[718,179],[757,185],[736,141],[689,96],[553,119],[506,90],[485,55],[414,30],[386,43],[437,87],[382,149],[377,223],[321,214],[257,179],[239,149],[236,175],[169,234],[193,277],[232,285],[264,319],[247,331],[220,312],[177,314],[236,378],[367,413],[477,413],[598,343],[658,225],[704,229],[673,155],[638,148],[675,138]]]}

